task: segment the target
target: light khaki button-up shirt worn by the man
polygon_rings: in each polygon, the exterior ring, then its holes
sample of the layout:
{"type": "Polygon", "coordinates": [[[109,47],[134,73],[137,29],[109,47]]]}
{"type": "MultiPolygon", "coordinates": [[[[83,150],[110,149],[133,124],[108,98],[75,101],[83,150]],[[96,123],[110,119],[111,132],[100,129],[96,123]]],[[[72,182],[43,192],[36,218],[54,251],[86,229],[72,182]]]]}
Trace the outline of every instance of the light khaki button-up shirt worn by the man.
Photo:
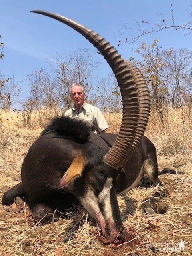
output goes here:
{"type": "Polygon", "coordinates": [[[70,118],[81,118],[90,124],[94,124],[96,127],[94,130],[95,133],[102,132],[109,127],[101,111],[97,107],[86,102],[84,102],[80,107],[79,113],[75,106],[73,106],[73,108],[66,110],[64,116],[69,116],[70,118]]]}

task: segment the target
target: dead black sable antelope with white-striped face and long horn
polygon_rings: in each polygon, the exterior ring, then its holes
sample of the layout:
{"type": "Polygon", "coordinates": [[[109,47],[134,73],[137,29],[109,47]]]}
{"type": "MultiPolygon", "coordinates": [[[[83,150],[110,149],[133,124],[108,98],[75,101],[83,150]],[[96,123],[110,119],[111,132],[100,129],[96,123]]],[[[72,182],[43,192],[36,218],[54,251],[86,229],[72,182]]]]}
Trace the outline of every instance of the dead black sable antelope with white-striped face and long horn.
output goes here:
{"type": "Polygon", "coordinates": [[[64,16],[32,11],[74,28],[104,56],[118,81],[123,102],[120,132],[94,134],[91,127],[67,117],[54,118],[30,147],[21,168],[22,182],[8,190],[3,204],[25,196],[34,218],[68,208],[74,197],[98,221],[104,235],[124,239],[116,192],[136,187],[146,173],[160,184],[156,149],[143,136],[150,113],[150,96],[141,72],[124,60],[99,34],[64,16]],[[112,147],[111,147],[112,146],[112,147]]]}

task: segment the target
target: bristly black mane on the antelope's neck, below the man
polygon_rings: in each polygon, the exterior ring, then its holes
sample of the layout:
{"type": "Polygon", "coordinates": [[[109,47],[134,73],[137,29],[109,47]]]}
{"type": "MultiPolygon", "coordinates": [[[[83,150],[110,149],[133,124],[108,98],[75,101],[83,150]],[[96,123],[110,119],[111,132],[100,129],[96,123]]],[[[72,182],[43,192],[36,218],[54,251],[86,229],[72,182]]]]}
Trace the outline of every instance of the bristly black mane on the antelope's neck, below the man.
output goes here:
{"type": "Polygon", "coordinates": [[[82,119],[56,116],[50,120],[50,124],[42,131],[41,136],[48,132],[55,132],[58,136],[65,136],[78,143],[84,143],[89,139],[92,130],[94,130],[94,125],[82,119]]]}

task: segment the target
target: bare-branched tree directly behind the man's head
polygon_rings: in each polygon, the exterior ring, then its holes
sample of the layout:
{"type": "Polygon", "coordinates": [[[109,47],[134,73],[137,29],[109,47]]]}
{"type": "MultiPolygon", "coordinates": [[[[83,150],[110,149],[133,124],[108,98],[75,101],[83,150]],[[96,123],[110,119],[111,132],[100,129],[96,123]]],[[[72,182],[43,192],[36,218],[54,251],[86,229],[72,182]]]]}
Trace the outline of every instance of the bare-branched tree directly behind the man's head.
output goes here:
{"type": "Polygon", "coordinates": [[[98,62],[95,62],[94,55],[89,48],[76,49],[74,48],[72,54],[63,54],[55,57],[55,65],[50,61],[48,64],[54,70],[56,77],[60,83],[59,98],[62,100],[62,109],[65,111],[70,108],[72,102],[70,100],[70,87],[74,83],[81,84],[86,93],[86,102],[97,104],[98,98],[92,93],[93,73],[97,68],[98,62]]]}

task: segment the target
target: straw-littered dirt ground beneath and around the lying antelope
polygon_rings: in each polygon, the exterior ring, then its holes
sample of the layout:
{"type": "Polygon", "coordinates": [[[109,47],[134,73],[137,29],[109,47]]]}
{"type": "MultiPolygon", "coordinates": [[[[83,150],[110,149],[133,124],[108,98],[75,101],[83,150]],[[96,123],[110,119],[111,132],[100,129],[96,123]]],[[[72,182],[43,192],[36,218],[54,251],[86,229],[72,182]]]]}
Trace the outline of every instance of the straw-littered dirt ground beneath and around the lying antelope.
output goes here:
{"type": "MultiPolygon", "coordinates": [[[[15,141],[20,140],[16,133],[15,141]]],[[[36,137],[26,133],[18,146],[9,146],[0,156],[0,197],[5,186],[18,184],[20,166],[36,137]],[[22,145],[22,146],[21,146],[22,145]],[[18,177],[16,177],[18,176],[18,177]]],[[[164,174],[160,178],[171,192],[164,199],[168,204],[165,214],[140,214],[145,198],[160,188],[135,188],[118,196],[126,242],[105,244],[100,228],[82,206],[73,206],[58,222],[36,223],[28,205],[16,202],[12,206],[0,204],[0,255],[13,256],[126,256],[126,255],[192,255],[192,159],[158,156],[160,170],[172,167],[173,162],[186,162],[176,170],[182,175],[164,174]],[[179,247],[184,242],[185,248],[179,247]]]]}

